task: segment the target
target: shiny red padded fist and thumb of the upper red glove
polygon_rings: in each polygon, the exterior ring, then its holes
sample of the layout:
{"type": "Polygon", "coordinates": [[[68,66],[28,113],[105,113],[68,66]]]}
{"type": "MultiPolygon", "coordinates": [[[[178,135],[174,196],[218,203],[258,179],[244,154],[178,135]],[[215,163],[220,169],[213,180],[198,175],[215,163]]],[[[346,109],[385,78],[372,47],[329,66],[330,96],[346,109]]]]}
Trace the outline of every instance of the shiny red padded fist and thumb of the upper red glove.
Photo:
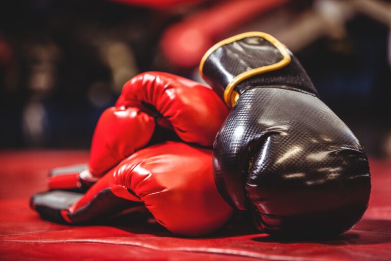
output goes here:
{"type": "Polygon", "coordinates": [[[145,72],[124,85],[116,106],[96,126],[90,173],[99,177],[150,141],[156,124],[188,143],[212,146],[228,109],[212,89],[164,72],[145,72]]]}

